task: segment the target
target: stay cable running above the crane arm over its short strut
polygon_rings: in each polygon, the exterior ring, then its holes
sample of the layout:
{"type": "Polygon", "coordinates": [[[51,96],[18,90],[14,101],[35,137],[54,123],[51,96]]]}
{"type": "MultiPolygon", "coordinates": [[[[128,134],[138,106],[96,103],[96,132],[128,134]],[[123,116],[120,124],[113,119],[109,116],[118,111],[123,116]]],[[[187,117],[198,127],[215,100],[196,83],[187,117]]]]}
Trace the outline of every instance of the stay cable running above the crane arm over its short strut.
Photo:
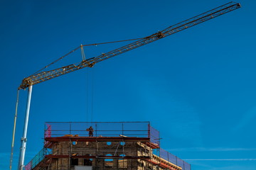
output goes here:
{"type": "Polygon", "coordinates": [[[134,38],[134,39],[129,39],[129,40],[118,40],[118,41],[112,41],[112,42],[100,42],[100,43],[89,44],[89,45],[80,45],[79,47],[76,47],[74,50],[68,52],[67,54],[63,55],[62,57],[58,58],[57,60],[51,62],[48,65],[46,65],[42,69],[39,69],[37,72],[33,73],[32,76],[37,74],[38,72],[41,72],[43,69],[48,68],[50,65],[55,64],[55,62],[58,62],[58,61],[62,60],[64,57],[67,57],[68,55],[70,55],[71,53],[75,52],[76,50],[78,50],[81,47],[91,46],[91,45],[103,45],[103,44],[110,44],[110,43],[124,42],[124,41],[132,41],[132,40],[141,40],[141,39],[143,39],[143,38],[134,38]]]}

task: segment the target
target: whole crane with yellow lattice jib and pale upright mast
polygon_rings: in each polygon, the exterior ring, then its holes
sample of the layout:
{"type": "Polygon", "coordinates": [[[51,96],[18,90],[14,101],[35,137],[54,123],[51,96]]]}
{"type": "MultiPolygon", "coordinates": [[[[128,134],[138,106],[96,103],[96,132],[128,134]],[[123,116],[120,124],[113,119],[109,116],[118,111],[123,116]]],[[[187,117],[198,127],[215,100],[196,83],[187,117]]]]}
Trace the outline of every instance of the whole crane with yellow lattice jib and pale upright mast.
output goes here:
{"type": "MultiPolygon", "coordinates": [[[[115,50],[112,50],[110,52],[102,53],[102,55],[99,55],[97,57],[92,57],[90,59],[85,60],[85,57],[83,57],[82,61],[78,64],[70,64],[64,67],[60,67],[57,69],[52,69],[50,71],[43,71],[43,72],[37,72],[36,74],[32,74],[29,77],[26,77],[23,79],[20,86],[18,86],[18,90],[20,89],[27,89],[28,88],[28,103],[27,103],[27,110],[26,110],[26,118],[24,123],[24,130],[23,130],[23,137],[21,138],[21,152],[20,152],[20,158],[18,163],[18,170],[23,169],[23,162],[25,157],[25,151],[26,151],[26,132],[28,128],[28,115],[29,115],[29,108],[30,108],[30,101],[31,101],[31,91],[32,86],[35,84],[39,84],[43,81],[47,81],[50,79],[53,79],[55,77],[59,77],[64,74],[68,74],[70,72],[75,72],[78,69],[82,69],[85,67],[93,67],[98,62],[101,62],[103,60],[107,60],[109,58],[112,58],[117,55],[121,55],[124,52],[128,52],[129,50],[133,50],[137,47],[141,47],[143,45],[149,44],[150,42],[154,42],[156,40],[159,40],[161,38],[165,38],[169,35],[172,35],[174,33],[178,33],[181,30],[186,30],[187,28],[191,28],[193,26],[198,25],[199,23],[203,23],[205,21],[208,21],[210,19],[216,18],[218,16],[221,16],[225,13],[228,13],[230,11],[234,11],[235,9],[240,8],[239,3],[235,3],[231,1],[228,4],[224,4],[223,6],[219,6],[217,8],[213,8],[210,11],[207,11],[205,13],[201,13],[198,16],[194,16],[193,18],[189,18],[186,21],[182,21],[180,23],[177,23],[173,26],[169,26],[168,28],[161,30],[157,33],[154,33],[152,35],[149,35],[145,38],[139,38],[139,40],[136,40],[128,45],[124,45],[123,47],[119,47],[115,50]]],[[[80,47],[75,48],[73,51],[78,50],[86,45],[80,45],[80,47]]],[[[71,52],[69,52],[67,55],[69,55],[71,52]]],[[[18,97],[17,97],[18,98],[18,97]]],[[[17,115],[17,106],[18,106],[18,99],[16,102],[16,115],[17,115]]],[[[11,151],[11,160],[10,160],[10,169],[11,169],[11,162],[12,162],[12,155],[13,155],[13,148],[14,148],[14,134],[15,134],[15,127],[16,127],[16,115],[14,117],[14,132],[13,132],[13,142],[12,142],[12,151],[11,151]]]]}

